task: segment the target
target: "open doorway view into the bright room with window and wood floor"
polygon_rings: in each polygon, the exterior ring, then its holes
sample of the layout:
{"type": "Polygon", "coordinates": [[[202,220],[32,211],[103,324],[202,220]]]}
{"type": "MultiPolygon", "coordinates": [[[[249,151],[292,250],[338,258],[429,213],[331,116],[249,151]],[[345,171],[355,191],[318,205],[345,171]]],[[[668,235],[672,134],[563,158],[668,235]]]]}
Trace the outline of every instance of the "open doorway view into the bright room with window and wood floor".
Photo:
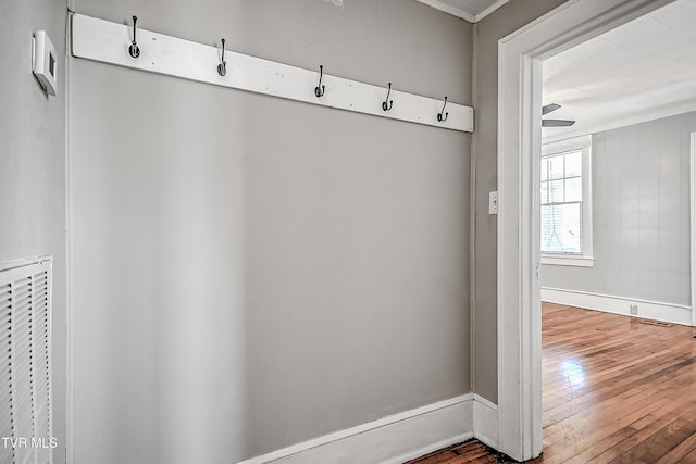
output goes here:
{"type": "MultiPolygon", "coordinates": [[[[693,324],[695,16],[678,0],[543,61],[546,456],[630,460],[664,423],[688,422],[687,405],[652,410],[642,394],[683,391],[678,377],[689,375],[675,361],[693,344],[679,343],[692,330],[676,325],[693,324]],[[622,404],[633,406],[605,414],[622,404]]],[[[670,451],[650,447],[656,459],[670,451]]]]}

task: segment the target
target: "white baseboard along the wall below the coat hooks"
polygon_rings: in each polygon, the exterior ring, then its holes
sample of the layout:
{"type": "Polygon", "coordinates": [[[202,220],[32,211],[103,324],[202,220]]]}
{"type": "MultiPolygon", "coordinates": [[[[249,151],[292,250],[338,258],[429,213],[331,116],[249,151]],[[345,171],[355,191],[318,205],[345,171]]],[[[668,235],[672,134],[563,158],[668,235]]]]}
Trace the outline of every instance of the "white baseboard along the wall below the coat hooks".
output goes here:
{"type": "MultiPolygon", "coordinates": [[[[474,403],[472,393],[463,394],[294,444],[238,464],[401,464],[473,438],[474,403]]],[[[487,409],[488,405],[483,406],[482,417],[489,415],[487,409]]],[[[482,419],[482,423],[486,421],[488,419],[482,419]]],[[[497,437],[497,427],[495,436],[497,437]]]]}

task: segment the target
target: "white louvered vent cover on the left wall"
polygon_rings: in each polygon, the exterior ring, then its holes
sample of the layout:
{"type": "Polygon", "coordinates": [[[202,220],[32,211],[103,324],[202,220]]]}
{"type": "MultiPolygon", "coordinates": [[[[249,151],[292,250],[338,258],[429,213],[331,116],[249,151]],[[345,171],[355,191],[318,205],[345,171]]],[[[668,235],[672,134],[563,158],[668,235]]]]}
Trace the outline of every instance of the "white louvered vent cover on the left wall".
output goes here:
{"type": "Polygon", "coordinates": [[[52,463],[51,261],[0,272],[0,464],[52,463]]]}

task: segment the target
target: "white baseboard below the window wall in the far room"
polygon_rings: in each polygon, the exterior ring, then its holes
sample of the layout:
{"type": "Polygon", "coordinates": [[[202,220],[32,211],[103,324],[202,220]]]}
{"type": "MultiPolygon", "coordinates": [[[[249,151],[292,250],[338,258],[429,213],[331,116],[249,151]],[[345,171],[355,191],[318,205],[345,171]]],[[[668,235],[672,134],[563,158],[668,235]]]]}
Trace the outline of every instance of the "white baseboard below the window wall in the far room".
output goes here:
{"type": "Polygon", "coordinates": [[[635,317],[687,326],[692,325],[692,309],[679,304],[548,287],[542,288],[542,301],[625,316],[632,315],[631,304],[636,304],[638,306],[638,314],[634,315],[635,317]]]}

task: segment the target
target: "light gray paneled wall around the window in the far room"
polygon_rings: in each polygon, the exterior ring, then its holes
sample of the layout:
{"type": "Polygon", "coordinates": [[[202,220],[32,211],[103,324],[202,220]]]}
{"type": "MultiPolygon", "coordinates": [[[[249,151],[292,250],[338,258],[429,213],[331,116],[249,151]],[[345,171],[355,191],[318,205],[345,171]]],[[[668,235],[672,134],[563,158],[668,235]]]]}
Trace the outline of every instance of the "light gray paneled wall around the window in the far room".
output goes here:
{"type": "Polygon", "coordinates": [[[544,287],[691,305],[693,131],[696,113],[593,135],[595,265],[544,265],[544,287]]]}

